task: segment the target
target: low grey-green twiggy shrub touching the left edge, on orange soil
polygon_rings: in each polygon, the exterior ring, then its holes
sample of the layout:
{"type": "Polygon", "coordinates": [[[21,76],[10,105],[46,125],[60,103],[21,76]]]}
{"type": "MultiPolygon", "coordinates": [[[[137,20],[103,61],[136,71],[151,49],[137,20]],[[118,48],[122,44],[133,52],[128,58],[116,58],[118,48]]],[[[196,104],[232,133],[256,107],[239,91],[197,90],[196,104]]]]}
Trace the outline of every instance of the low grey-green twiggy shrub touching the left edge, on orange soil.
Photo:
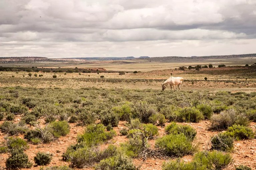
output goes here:
{"type": "Polygon", "coordinates": [[[9,135],[17,135],[17,134],[23,134],[26,132],[27,127],[24,126],[21,122],[15,124],[11,121],[4,121],[0,125],[1,132],[7,133],[9,135]]]}

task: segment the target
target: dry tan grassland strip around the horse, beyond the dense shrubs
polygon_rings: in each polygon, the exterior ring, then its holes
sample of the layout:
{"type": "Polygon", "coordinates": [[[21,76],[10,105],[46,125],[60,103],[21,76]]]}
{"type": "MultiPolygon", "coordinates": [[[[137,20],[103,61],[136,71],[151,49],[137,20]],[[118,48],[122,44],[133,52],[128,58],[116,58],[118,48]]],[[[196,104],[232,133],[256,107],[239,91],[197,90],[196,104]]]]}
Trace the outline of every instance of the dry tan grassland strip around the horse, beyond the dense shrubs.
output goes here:
{"type": "MultiPolygon", "coordinates": [[[[43,73],[43,72],[0,72],[0,86],[58,87],[58,88],[128,88],[159,89],[161,83],[170,76],[183,77],[184,90],[229,90],[255,91],[256,69],[254,67],[232,66],[222,68],[203,68],[192,70],[153,70],[139,73],[43,73]],[[38,74],[37,77],[34,74],[38,74]],[[43,76],[39,77],[39,74],[43,76]],[[57,78],[53,78],[56,75],[57,78]],[[104,78],[100,78],[104,76],[104,78]],[[204,79],[207,77],[207,81],[204,79]]],[[[167,88],[169,90],[169,88],[167,88]]]]}

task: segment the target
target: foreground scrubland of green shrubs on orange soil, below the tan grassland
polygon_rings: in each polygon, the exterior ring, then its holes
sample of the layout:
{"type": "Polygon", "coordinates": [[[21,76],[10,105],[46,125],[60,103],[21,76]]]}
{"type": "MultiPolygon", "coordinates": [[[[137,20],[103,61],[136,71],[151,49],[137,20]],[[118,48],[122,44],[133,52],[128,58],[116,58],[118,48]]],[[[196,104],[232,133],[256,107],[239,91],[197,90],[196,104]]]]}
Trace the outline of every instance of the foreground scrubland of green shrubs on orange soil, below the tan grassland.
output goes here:
{"type": "Polygon", "coordinates": [[[177,158],[195,168],[256,167],[255,92],[1,87],[0,99],[2,167],[160,170],[181,166],[177,158]]]}

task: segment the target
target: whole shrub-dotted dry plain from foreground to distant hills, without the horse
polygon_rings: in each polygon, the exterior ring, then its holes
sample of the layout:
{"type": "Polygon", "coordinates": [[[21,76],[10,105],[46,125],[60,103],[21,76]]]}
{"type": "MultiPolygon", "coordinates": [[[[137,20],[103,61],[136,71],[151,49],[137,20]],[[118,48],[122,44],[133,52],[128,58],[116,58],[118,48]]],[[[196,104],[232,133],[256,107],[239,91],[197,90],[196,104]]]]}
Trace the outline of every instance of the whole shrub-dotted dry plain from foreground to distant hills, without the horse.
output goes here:
{"type": "MultiPolygon", "coordinates": [[[[241,61],[241,65],[249,60],[241,61]]],[[[39,170],[67,165],[85,170],[115,170],[118,167],[166,170],[175,169],[183,162],[170,162],[168,166],[164,162],[181,159],[187,164],[192,162],[186,166],[194,169],[235,170],[239,165],[246,165],[255,170],[255,67],[230,66],[199,71],[175,69],[188,64],[118,64],[117,61],[114,64],[111,61],[3,64],[142,72],[124,75],[30,72],[30,77],[29,72],[0,71],[0,118],[3,115],[0,119],[0,169],[10,166],[6,164],[7,160],[15,149],[21,147],[15,142],[15,146],[10,145],[11,136],[27,142],[26,147],[17,150],[28,156],[32,166],[19,169],[39,170]],[[39,77],[39,74],[43,76],[39,77]],[[54,75],[57,77],[53,78],[54,75]],[[171,91],[170,87],[162,91],[161,83],[170,76],[184,77],[181,91],[171,91]],[[180,126],[178,131],[167,130],[172,122],[180,126]],[[105,125],[103,131],[95,130],[101,124],[105,125]],[[136,128],[136,125],[140,126],[136,128]],[[128,135],[120,133],[124,129],[128,130],[128,135]],[[35,131],[41,132],[37,134],[35,131]],[[56,135],[60,131],[63,133],[56,135]],[[186,136],[192,132],[196,134],[195,138],[186,136]],[[214,148],[212,137],[222,133],[225,137],[215,143],[214,148]],[[162,146],[164,142],[161,143],[166,136],[178,138],[179,142],[170,144],[167,149],[167,146],[162,146]],[[222,147],[218,148],[219,145],[222,147]],[[116,151],[111,151],[111,147],[116,151]],[[219,155],[206,163],[208,167],[195,160],[198,154],[215,153],[216,148],[219,155]],[[49,164],[36,165],[34,157],[39,151],[52,154],[49,164]],[[63,160],[63,154],[66,160],[63,160]],[[143,159],[146,156],[147,159],[143,159]],[[231,157],[232,161],[229,160],[231,157]]],[[[209,63],[189,65],[193,64],[209,63]]],[[[210,156],[206,159],[210,160],[210,156]]]]}

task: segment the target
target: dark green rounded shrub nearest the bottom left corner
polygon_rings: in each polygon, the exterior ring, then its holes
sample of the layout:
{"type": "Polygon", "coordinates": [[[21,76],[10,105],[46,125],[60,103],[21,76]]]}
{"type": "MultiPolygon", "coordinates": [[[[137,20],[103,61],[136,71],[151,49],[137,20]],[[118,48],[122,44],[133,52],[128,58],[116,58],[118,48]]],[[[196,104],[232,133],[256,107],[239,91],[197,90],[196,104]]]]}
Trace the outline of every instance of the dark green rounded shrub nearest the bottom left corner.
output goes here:
{"type": "Polygon", "coordinates": [[[15,149],[6,159],[6,169],[30,168],[32,163],[28,160],[28,155],[24,151],[15,149]]]}

